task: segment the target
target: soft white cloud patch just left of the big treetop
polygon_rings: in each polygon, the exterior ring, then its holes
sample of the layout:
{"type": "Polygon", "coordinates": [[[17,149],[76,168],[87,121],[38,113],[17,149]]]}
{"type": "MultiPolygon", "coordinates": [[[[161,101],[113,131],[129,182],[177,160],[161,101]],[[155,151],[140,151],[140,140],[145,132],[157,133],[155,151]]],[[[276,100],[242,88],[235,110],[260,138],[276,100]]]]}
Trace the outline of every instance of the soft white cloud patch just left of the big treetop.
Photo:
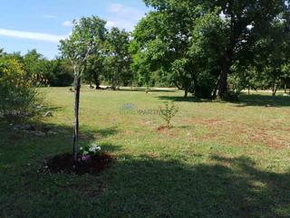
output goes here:
{"type": "Polygon", "coordinates": [[[108,11],[111,15],[107,18],[106,27],[117,26],[126,31],[133,31],[134,26],[145,16],[145,13],[139,9],[121,4],[108,5],[108,11]]]}

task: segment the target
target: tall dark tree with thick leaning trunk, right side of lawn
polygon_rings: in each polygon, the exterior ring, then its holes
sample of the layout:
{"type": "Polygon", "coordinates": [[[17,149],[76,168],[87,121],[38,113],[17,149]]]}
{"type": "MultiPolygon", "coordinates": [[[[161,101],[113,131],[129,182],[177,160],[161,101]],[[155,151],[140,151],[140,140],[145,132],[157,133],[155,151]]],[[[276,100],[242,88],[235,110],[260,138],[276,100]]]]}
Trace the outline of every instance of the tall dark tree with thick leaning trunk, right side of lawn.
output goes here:
{"type": "MultiPolygon", "coordinates": [[[[227,43],[221,48],[222,68],[218,83],[218,98],[222,99],[227,90],[227,75],[235,62],[250,57],[251,47],[265,35],[280,14],[287,12],[287,1],[282,0],[242,0],[206,1],[205,10],[212,12],[218,8],[227,25],[219,29],[227,43]],[[246,52],[247,51],[247,52],[246,52]]],[[[202,16],[203,18],[204,16],[202,16]]]]}

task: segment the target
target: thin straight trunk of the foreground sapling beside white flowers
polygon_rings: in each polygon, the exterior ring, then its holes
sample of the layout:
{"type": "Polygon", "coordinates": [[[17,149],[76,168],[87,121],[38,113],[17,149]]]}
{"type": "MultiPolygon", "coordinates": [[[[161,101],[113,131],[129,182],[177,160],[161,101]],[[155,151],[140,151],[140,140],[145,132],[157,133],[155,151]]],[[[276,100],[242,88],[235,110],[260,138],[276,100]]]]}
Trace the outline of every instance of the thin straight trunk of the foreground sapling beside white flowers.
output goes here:
{"type": "Polygon", "coordinates": [[[80,90],[81,90],[81,77],[75,76],[74,78],[74,136],[73,136],[73,160],[78,160],[78,142],[79,142],[79,108],[80,108],[80,90]]]}

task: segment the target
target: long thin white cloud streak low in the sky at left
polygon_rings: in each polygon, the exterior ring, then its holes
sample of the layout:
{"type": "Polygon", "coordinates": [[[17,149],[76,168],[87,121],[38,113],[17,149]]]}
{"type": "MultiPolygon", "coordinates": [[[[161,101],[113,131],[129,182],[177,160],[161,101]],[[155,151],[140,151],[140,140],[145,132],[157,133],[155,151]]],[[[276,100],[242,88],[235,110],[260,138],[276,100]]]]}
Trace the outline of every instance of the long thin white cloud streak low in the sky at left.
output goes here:
{"type": "Polygon", "coordinates": [[[18,30],[7,30],[7,29],[1,29],[1,28],[0,28],[0,35],[15,37],[15,38],[22,38],[22,39],[54,42],[54,43],[58,43],[60,40],[64,40],[68,38],[68,35],[58,35],[58,34],[50,34],[50,33],[34,33],[34,32],[26,32],[26,31],[18,31],[18,30]]]}

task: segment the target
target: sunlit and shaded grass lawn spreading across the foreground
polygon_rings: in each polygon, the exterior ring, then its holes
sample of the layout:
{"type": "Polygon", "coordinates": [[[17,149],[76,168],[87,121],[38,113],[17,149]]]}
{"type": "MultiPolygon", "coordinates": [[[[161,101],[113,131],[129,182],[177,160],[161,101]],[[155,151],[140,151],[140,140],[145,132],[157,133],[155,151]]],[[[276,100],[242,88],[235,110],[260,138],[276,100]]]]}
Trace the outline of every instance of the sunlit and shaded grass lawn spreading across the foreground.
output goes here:
{"type": "Polygon", "coordinates": [[[290,97],[182,95],[82,88],[80,145],[117,160],[100,176],[54,175],[43,164],[73,150],[74,100],[68,88],[47,89],[43,113],[54,117],[43,122],[58,134],[15,135],[1,123],[0,217],[290,217],[290,97]],[[157,130],[157,115],[120,114],[163,100],[179,106],[170,129],[157,130]]]}

